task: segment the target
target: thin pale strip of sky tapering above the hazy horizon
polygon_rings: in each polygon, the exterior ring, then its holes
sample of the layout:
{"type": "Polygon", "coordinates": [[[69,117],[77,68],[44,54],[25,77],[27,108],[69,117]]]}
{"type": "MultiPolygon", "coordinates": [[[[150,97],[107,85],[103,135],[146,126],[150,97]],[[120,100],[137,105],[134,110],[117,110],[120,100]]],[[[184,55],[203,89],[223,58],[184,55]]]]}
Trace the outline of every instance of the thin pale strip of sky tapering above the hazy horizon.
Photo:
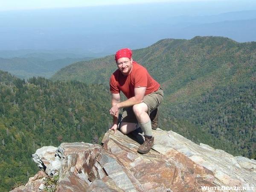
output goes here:
{"type": "MultiPolygon", "coordinates": [[[[129,1],[127,0],[0,0],[0,11],[102,6],[102,5],[121,5],[121,4],[128,4],[128,3],[136,4],[136,3],[153,3],[153,2],[160,3],[160,2],[193,2],[193,1],[207,2],[212,0],[129,0],[129,1]]],[[[223,0],[215,0],[215,1],[223,1],[223,0]]]]}

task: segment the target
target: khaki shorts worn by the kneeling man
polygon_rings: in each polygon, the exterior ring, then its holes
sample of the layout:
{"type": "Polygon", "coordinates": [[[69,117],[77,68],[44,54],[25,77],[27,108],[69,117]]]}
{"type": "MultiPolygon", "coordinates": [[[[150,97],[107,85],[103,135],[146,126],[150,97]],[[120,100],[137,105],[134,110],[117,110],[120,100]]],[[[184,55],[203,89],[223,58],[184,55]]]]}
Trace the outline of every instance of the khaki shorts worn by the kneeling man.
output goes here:
{"type": "MultiPolygon", "coordinates": [[[[143,98],[143,102],[148,106],[148,115],[156,109],[163,101],[163,90],[159,88],[157,91],[150,93],[143,98]]],[[[132,107],[123,108],[121,122],[138,123],[132,107]]]]}

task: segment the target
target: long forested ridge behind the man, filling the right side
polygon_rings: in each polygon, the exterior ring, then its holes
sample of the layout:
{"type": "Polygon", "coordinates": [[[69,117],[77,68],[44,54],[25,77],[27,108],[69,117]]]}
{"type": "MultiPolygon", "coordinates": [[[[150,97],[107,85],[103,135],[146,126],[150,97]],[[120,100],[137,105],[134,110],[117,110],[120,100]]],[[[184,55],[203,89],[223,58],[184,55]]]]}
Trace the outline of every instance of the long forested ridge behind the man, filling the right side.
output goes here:
{"type": "MultiPolygon", "coordinates": [[[[162,128],[234,155],[256,158],[256,42],[163,39],[133,58],[162,85],[162,128]]],[[[113,55],[69,65],[53,80],[108,86],[113,55]]]]}

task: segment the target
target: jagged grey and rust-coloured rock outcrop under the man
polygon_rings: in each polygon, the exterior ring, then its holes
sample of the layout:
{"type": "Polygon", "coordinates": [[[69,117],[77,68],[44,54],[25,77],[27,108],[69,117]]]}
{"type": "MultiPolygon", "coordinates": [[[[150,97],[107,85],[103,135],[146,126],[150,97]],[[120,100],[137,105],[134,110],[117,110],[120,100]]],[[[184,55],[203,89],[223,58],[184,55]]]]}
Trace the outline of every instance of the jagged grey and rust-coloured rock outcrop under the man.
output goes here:
{"type": "MultiPolygon", "coordinates": [[[[256,191],[255,160],[197,145],[173,131],[153,134],[155,145],[148,154],[137,153],[143,142],[137,132],[108,131],[103,145],[62,143],[58,149],[38,149],[33,159],[47,175],[58,175],[57,192],[256,191]]],[[[13,191],[42,191],[45,179],[32,180],[37,183],[33,189],[27,183],[13,191]]]]}

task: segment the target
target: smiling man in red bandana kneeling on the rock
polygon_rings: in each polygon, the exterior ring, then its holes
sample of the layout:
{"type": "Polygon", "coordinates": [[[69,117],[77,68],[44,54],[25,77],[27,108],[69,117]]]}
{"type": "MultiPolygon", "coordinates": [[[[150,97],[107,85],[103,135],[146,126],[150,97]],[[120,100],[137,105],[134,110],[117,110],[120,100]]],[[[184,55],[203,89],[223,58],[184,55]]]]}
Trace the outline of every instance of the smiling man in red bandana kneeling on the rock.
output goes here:
{"type": "Polygon", "coordinates": [[[162,102],[163,90],[145,67],[133,61],[131,49],[118,50],[115,61],[118,69],[110,78],[112,108],[109,112],[113,116],[113,126],[110,130],[116,133],[119,109],[123,108],[120,131],[128,134],[134,131],[139,123],[144,132],[145,141],[138,148],[138,152],[148,153],[154,145],[149,114],[162,102]],[[124,93],[127,100],[120,102],[120,91],[124,93]]]}

